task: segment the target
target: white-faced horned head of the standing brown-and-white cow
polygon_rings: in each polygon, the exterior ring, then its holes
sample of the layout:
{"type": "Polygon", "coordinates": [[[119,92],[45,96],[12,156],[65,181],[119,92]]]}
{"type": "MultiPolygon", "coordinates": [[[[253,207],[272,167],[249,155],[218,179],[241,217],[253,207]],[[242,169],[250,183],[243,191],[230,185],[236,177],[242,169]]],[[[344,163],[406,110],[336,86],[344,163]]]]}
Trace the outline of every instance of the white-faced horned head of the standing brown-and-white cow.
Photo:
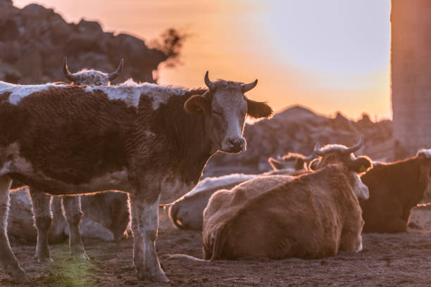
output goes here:
{"type": "Polygon", "coordinates": [[[267,103],[252,101],[244,93],[256,87],[257,79],[249,84],[220,79],[211,82],[205,74],[208,87],[203,95],[191,96],[184,105],[187,113],[203,115],[213,147],[225,153],[245,151],[246,141],[242,136],[246,115],[271,117],[273,109],[267,103]]]}

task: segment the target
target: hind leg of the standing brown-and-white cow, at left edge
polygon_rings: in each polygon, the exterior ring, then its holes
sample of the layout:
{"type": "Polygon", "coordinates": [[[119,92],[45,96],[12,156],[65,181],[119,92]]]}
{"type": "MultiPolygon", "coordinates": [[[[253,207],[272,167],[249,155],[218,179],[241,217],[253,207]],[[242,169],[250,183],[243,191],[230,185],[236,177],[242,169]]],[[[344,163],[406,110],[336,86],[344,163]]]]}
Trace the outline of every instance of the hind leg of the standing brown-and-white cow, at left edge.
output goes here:
{"type": "Polygon", "coordinates": [[[29,281],[27,274],[18,264],[12,252],[8,239],[8,210],[9,210],[9,188],[12,180],[6,176],[0,176],[0,262],[7,274],[12,276],[15,283],[29,281]]]}

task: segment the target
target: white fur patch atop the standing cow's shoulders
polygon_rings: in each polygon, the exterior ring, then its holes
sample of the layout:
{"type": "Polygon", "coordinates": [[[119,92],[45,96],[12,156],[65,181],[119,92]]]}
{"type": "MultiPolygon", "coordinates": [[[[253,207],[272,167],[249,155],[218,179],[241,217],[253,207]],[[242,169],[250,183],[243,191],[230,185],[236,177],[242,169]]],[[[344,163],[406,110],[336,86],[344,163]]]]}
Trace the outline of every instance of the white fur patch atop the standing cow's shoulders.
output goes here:
{"type": "Polygon", "coordinates": [[[161,103],[168,101],[170,96],[180,96],[185,94],[185,89],[164,87],[158,84],[143,83],[138,84],[128,79],[123,84],[118,86],[99,86],[87,87],[86,91],[101,90],[108,95],[111,100],[121,100],[127,103],[127,106],[137,107],[141,94],[145,94],[151,98],[151,105],[154,110],[157,110],[161,103]]]}

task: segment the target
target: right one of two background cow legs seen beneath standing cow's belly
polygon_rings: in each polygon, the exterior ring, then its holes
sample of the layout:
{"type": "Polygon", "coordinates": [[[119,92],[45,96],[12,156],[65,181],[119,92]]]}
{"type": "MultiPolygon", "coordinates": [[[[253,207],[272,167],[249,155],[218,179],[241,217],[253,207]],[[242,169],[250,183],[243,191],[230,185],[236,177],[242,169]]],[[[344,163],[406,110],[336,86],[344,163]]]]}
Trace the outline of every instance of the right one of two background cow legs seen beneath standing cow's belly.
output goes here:
{"type": "Polygon", "coordinates": [[[88,260],[80,234],[81,197],[63,196],[63,209],[69,227],[69,247],[76,259],[88,260]]]}

